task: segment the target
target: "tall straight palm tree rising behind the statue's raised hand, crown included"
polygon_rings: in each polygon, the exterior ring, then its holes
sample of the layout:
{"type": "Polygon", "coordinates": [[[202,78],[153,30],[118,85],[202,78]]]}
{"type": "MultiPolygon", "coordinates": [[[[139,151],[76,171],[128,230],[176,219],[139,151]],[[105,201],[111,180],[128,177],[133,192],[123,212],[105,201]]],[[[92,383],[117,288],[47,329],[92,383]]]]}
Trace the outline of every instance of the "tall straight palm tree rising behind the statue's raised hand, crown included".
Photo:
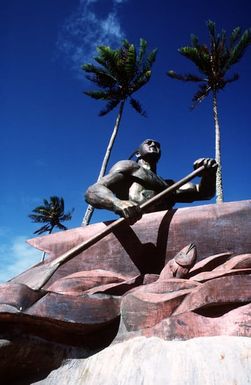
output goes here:
{"type": "Polygon", "coordinates": [[[209,20],[207,27],[210,38],[209,46],[199,44],[198,37],[191,35],[191,46],[182,47],[178,50],[181,55],[196,65],[200,75],[193,75],[191,73],[180,75],[174,71],[168,71],[167,75],[177,80],[200,83],[199,90],[192,99],[192,108],[202,102],[210,93],[212,94],[215,126],[215,159],[218,163],[216,175],[216,201],[218,203],[223,202],[223,187],[217,95],[227,84],[239,78],[239,75],[236,73],[229,78],[226,78],[226,74],[241,59],[250,45],[251,30],[248,29],[241,33],[240,27],[234,28],[227,43],[226,32],[222,30],[220,33],[217,33],[214,22],[209,20]]]}

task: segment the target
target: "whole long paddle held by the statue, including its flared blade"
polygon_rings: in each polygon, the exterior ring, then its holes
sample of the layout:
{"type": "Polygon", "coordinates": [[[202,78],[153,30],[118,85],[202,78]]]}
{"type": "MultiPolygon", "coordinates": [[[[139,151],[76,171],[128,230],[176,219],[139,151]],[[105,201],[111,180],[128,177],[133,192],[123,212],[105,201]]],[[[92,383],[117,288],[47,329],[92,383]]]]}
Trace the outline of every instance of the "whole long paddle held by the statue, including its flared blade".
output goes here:
{"type": "MultiPolygon", "coordinates": [[[[174,183],[172,186],[166,188],[164,191],[160,192],[159,194],[155,195],[148,201],[144,202],[142,205],[140,205],[140,208],[142,209],[142,211],[144,211],[144,209],[146,208],[149,208],[151,205],[153,205],[160,199],[171,194],[172,192],[177,190],[179,187],[183,186],[185,183],[189,182],[191,179],[198,176],[202,171],[205,170],[205,168],[206,168],[205,165],[200,166],[199,168],[197,168],[196,170],[188,174],[186,177],[180,179],[178,182],[174,183]]],[[[54,272],[58,269],[59,266],[63,265],[70,259],[74,258],[76,255],[86,250],[88,247],[94,245],[96,242],[104,238],[106,235],[110,234],[113,231],[113,229],[115,229],[125,221],[126,221],[125,218],[119,218],[118,220],[108,225],[106,229],[100,231],[98,234],[94,235],[92,238],[88,239],[87,241],[84,241],[79,245],[74,246],[70,250],[66,251],[64,254],[54,259],[48,265],[43,264],[43,265],[33,267],[31,270],[28,270],[27,272],[21,274],[19,277],[14,278],[13,281],[16,283],[24,283],[25,285],[31,287],[34,290],[41,289],[46,284],[46,282],[51,278],[51,276],[54,274],[54,272]],[[31,274],[29,274],[29,272],[31,274]]]]}

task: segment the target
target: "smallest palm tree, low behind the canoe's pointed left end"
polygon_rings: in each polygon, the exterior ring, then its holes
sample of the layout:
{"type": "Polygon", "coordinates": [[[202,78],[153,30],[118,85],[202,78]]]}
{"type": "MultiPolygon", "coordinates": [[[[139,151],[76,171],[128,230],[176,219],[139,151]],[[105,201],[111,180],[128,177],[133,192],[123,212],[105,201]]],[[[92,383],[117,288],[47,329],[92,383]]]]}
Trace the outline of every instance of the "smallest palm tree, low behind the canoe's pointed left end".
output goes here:
{"type": "MultiPolygon", "coordinates": [[[[67,227],[62,225],[61,222],[69,221],[72,218],[73,210],[68,213],[64,212],[64,199],[57,196],[50,197],[50,201],[43,199],[43,205],[35,207],[29,215],[34,223],[45,223],[44,226],[34,231],[33,234],[41,235],[48,232],[51,234],[54,227],[60,230],[67,230],[67,227]]],[[[42,261],[45,258],[45,252],[43,253],[42,261]]]]}

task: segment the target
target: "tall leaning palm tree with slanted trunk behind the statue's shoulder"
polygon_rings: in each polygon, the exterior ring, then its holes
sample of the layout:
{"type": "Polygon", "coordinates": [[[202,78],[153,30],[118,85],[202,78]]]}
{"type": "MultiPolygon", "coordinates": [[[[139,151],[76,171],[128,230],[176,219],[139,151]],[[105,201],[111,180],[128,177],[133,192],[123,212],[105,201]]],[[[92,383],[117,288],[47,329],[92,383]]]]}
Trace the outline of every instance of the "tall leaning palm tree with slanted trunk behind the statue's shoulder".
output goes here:
{"type": "MultiPolygon", "coordinates": [[[[134,44],[130,44],[127,40],[124,40],[118,49],[99,46],[97,52],[98,56],[94,60],[98,65],[83,65],[83,70],[87,73],[86,78],[96,85],[97,90],[84,93],[91,98],[106,102],[99,116],[104,116],[118,107],[118,115],[99,172],[99,180],[106,172],[126,100],[129,100],[136,112],[146,116],[140,102],[132,95],[150,80],[157,50],[154,49],[147,54],[147,42],[140,39],[138,52],[134,44]]],[[[82,225],[89,224],[93,211],[94,208],[89,205],[82,225]]]]}

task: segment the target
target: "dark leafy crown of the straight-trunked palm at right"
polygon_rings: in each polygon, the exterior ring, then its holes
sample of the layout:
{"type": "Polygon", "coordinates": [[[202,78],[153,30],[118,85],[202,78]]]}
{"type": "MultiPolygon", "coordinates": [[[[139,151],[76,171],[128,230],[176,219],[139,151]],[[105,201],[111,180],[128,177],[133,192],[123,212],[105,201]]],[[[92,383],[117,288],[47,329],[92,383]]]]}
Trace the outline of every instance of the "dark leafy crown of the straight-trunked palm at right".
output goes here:
{"type": "Polygon", "coordinates": [[[238,79],[238,75],[225,79],[225,75],[230,67],[237,63],[251,44],[251,30],[246,30],[240,36],[240,27],[235,28],[230,36],[229,46],[226,41],[226,32],[216,31],[216,24],[208,20],[207,22],[210,45],[199,44],[198,38],[191,35],[192,46],[181,47],[180,54],[191,60],[204,76],[188,74],[178,74],[168,71],[167,75],[173,79],[182,81],[202,82],[198,92],[194,95],[195,104],[201,102],[208,92],[217,92],[225,87],[226,84],[238,79]],[[208,87],[206,87],[206,84],[208,87]],[[205,88],[206,87],[206,88],[205,88]]]}

